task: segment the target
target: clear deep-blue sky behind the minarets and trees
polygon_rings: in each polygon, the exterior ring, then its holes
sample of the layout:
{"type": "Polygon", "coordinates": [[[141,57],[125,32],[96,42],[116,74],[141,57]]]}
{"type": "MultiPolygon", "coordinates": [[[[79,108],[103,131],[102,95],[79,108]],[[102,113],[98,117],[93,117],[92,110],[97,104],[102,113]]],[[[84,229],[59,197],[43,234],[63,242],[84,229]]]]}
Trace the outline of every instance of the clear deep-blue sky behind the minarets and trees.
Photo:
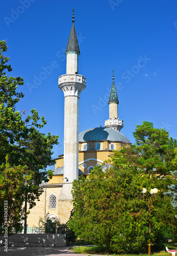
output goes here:
{"type": "Polygon", "coordinates": [[[1,7],[1,40],[8,43],[11,76],[24,78],[25,97],[17,110],[36,109],[47,120],[42,132],[60,136],[54,157],[63,154],[64,95],[58,77],[66,73],[72,8],[79,74],[87,79],[80,132],[109,119],[114,69],[121,132],[133,143],[135,125],[146,120],[176,138],[175,0],[7,0],[1,7]]]}

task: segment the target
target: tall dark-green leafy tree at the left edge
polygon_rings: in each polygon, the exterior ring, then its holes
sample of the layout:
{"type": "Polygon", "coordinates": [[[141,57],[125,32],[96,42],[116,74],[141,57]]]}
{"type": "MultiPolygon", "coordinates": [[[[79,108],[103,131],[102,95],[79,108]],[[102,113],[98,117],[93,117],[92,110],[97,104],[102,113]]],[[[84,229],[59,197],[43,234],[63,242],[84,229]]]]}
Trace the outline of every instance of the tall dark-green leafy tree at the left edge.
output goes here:
{"type": "Polygon", "coordinates": [[[11,200],[9,227],[12,229],[13,224],[19,229],[19,221],[27,215],[22,207],[24,195],[32,208],[40,195],[39,184],[52,178],[52,171],[46,167],[55,163],[52,148],[58,144],[58,136],[39,131],[46,121],[35,109],[27,116],[24,110],[23,115],[16,111],[16,104],[24,97],[18,91],[23,79],[6,75],[7,71],[12,71],[7,64],[9,58],[4,56],[7,48],[6,42],[0,41],[0,226],[4,223],[4,201],[11,200]],[[8,185],[10,182],[14,185],[8,185]]]}

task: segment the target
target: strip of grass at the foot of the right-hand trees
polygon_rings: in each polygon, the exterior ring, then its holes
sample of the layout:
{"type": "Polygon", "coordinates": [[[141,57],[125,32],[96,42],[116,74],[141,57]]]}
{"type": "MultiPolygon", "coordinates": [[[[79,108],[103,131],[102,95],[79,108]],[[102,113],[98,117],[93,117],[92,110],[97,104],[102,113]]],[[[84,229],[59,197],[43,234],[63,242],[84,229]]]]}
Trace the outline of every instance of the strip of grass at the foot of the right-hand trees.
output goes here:
{"type": "MultiPolygon", "coordinates": [[[[168,245],[169,249],[177,249],[176,245],[169,244],[168,245]]],[[[107,247],[102,245],[94,245],[94,246],[77,246],[77,247],[72,247],[71,250],[76,253],[82,253],[82,254],[106,254],[109,255],[107,247]]],[[[153,256],[171,256],[171,253],[167,251],[160,251],[156,253],[151,253],[153,256]]],[[[111,255],[126,255],[126,256],[137,256],[137,254],[131,254],[131,253],[124,253],[124,254],[111,254],[111,255]]],[[[139,256],[148,256],[148,254],[138,254],[139,256]]]]}

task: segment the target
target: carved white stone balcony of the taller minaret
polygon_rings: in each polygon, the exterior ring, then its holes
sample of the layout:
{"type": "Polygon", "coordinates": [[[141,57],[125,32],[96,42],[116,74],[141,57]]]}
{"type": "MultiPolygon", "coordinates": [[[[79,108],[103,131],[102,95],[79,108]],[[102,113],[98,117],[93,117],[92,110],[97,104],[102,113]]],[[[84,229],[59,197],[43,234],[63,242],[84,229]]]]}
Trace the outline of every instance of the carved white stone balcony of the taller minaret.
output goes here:
{"type": "Polygon", "coordinates": [[[58,78],[58,86],[64,96],[80,96],[80,93],[86,88],[86,78],[78,74],[62,75],[58,78]]]}

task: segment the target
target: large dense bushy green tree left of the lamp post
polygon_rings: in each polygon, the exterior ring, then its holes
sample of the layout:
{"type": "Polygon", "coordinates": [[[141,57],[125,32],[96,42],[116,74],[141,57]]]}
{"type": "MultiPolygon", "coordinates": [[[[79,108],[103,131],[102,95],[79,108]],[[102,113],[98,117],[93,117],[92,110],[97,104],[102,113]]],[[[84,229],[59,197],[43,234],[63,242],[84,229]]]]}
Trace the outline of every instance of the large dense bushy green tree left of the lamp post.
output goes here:
{"type": "MultiPolygon", "coordinates": [[[[142,252],[147,248],[149,211],[142,199],[143,187],[155,187],[156,177],[141,174],[125,163],[105,171],[94,168],[89,179],[73,183],[75,234],[94,244],[106,244],[110,253],[142,252]]],[[[156,226],[156,220],[152,219],[156,226]]]]}

